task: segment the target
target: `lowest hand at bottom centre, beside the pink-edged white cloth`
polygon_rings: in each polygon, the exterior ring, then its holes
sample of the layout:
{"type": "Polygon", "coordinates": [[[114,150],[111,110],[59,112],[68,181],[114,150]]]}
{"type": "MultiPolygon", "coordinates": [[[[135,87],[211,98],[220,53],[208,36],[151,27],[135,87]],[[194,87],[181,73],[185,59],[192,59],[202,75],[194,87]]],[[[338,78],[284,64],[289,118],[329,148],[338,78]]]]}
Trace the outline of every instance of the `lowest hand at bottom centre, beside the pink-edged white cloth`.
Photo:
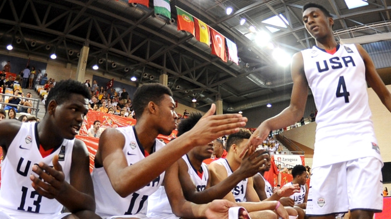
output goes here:
{"type": "MultiPolygon", "coordinates": [[[[205,210],[205,217],[207,219],[228,219],[228,211],[231,207],[237,207],[238,205],[234,202],[217,199],[207,204],[205,210]]],[[[248,218],[246,211],[239,211],[239,218],[248,218]]]]}

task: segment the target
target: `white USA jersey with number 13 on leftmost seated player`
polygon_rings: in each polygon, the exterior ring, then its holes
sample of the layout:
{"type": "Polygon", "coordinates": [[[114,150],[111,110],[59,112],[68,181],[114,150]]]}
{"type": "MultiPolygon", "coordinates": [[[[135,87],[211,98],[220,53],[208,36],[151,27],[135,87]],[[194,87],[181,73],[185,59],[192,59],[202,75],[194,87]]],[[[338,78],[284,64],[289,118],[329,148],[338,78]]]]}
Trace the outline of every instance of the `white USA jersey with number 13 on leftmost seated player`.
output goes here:
{"type": "Polygon", "coordinates": [[[69,171],[75,140],[64,139],[57,149],[43,158],[39,151],[37,124],[22,123],[21,129],[11,142],[1,163],[0,209],[12,215],[40,213],[37,216],[42,214],[46,217],[48,214],[56,215],[63,209],[63,205],[56,199],[39,195],[31,186],[29,176],[37,176],[32,171],[34,164],[43,162],[53,166],[53,156],[58,154],[65,181],[69,183],[69,171]]]}

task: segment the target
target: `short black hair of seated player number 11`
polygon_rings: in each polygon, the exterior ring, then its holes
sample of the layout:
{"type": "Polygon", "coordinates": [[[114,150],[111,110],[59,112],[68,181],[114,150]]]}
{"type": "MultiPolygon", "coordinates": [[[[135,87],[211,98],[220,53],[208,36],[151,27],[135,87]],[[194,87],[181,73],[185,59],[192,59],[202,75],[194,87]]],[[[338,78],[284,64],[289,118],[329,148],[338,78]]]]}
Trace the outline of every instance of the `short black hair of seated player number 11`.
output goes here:
{"type": "Polygon", "coordinates": [[[159,105],[164,94],[173,96],[173,92],[171,92],[170,88],[158,83],[144,84],[138,87],[133,94],[132,102],[134,113],[136,113],[136,119],[141,118],[144,109],[148,106],[149,102],[152,101],[159,105]]]}

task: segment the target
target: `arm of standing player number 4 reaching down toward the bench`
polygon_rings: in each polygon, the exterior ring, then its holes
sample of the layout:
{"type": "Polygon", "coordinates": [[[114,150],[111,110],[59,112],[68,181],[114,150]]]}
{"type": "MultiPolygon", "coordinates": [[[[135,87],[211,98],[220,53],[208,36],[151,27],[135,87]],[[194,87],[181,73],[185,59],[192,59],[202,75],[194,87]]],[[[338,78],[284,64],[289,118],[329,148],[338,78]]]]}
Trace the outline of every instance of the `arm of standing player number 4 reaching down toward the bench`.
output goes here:
{"type": "Polygon", "coordinates": [[[304,73],[304,61],[301,52],[293,55],[291,62],[291,75],[293,88],[289,106],[282,110],[278,115],[269,118],[261,123],[256,131],[251,135],[247,147],[240,155],[243,155],[247,149],[255,150],[272,130],[278,130],[294,124],[299,121],[304,114],[305,103],[308,96],[308,82],[304,73]],[[250,147],[254,146],[254,147],[250,147]]]}

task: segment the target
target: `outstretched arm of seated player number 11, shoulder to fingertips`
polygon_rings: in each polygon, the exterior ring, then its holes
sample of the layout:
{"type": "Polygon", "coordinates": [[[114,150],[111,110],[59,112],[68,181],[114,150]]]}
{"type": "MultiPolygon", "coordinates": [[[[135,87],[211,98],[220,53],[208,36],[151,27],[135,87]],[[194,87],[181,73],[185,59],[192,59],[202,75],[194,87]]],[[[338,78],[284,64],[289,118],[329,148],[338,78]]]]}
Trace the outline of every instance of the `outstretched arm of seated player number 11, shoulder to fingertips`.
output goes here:
{"type": "Polygon", "coordinates": [[[122,152],[125,137],[115,129],[105,130],[99,140],[97,160],[102,161],[114,190],[121,197],[129,196],[146,186],[194,146],[205,145],[219,136],[237,132],[247,122],[247,118],[240,114],[213,115],[215,110],[216,106],[212,104],[193,129],[130,166],[122,152]]]}

